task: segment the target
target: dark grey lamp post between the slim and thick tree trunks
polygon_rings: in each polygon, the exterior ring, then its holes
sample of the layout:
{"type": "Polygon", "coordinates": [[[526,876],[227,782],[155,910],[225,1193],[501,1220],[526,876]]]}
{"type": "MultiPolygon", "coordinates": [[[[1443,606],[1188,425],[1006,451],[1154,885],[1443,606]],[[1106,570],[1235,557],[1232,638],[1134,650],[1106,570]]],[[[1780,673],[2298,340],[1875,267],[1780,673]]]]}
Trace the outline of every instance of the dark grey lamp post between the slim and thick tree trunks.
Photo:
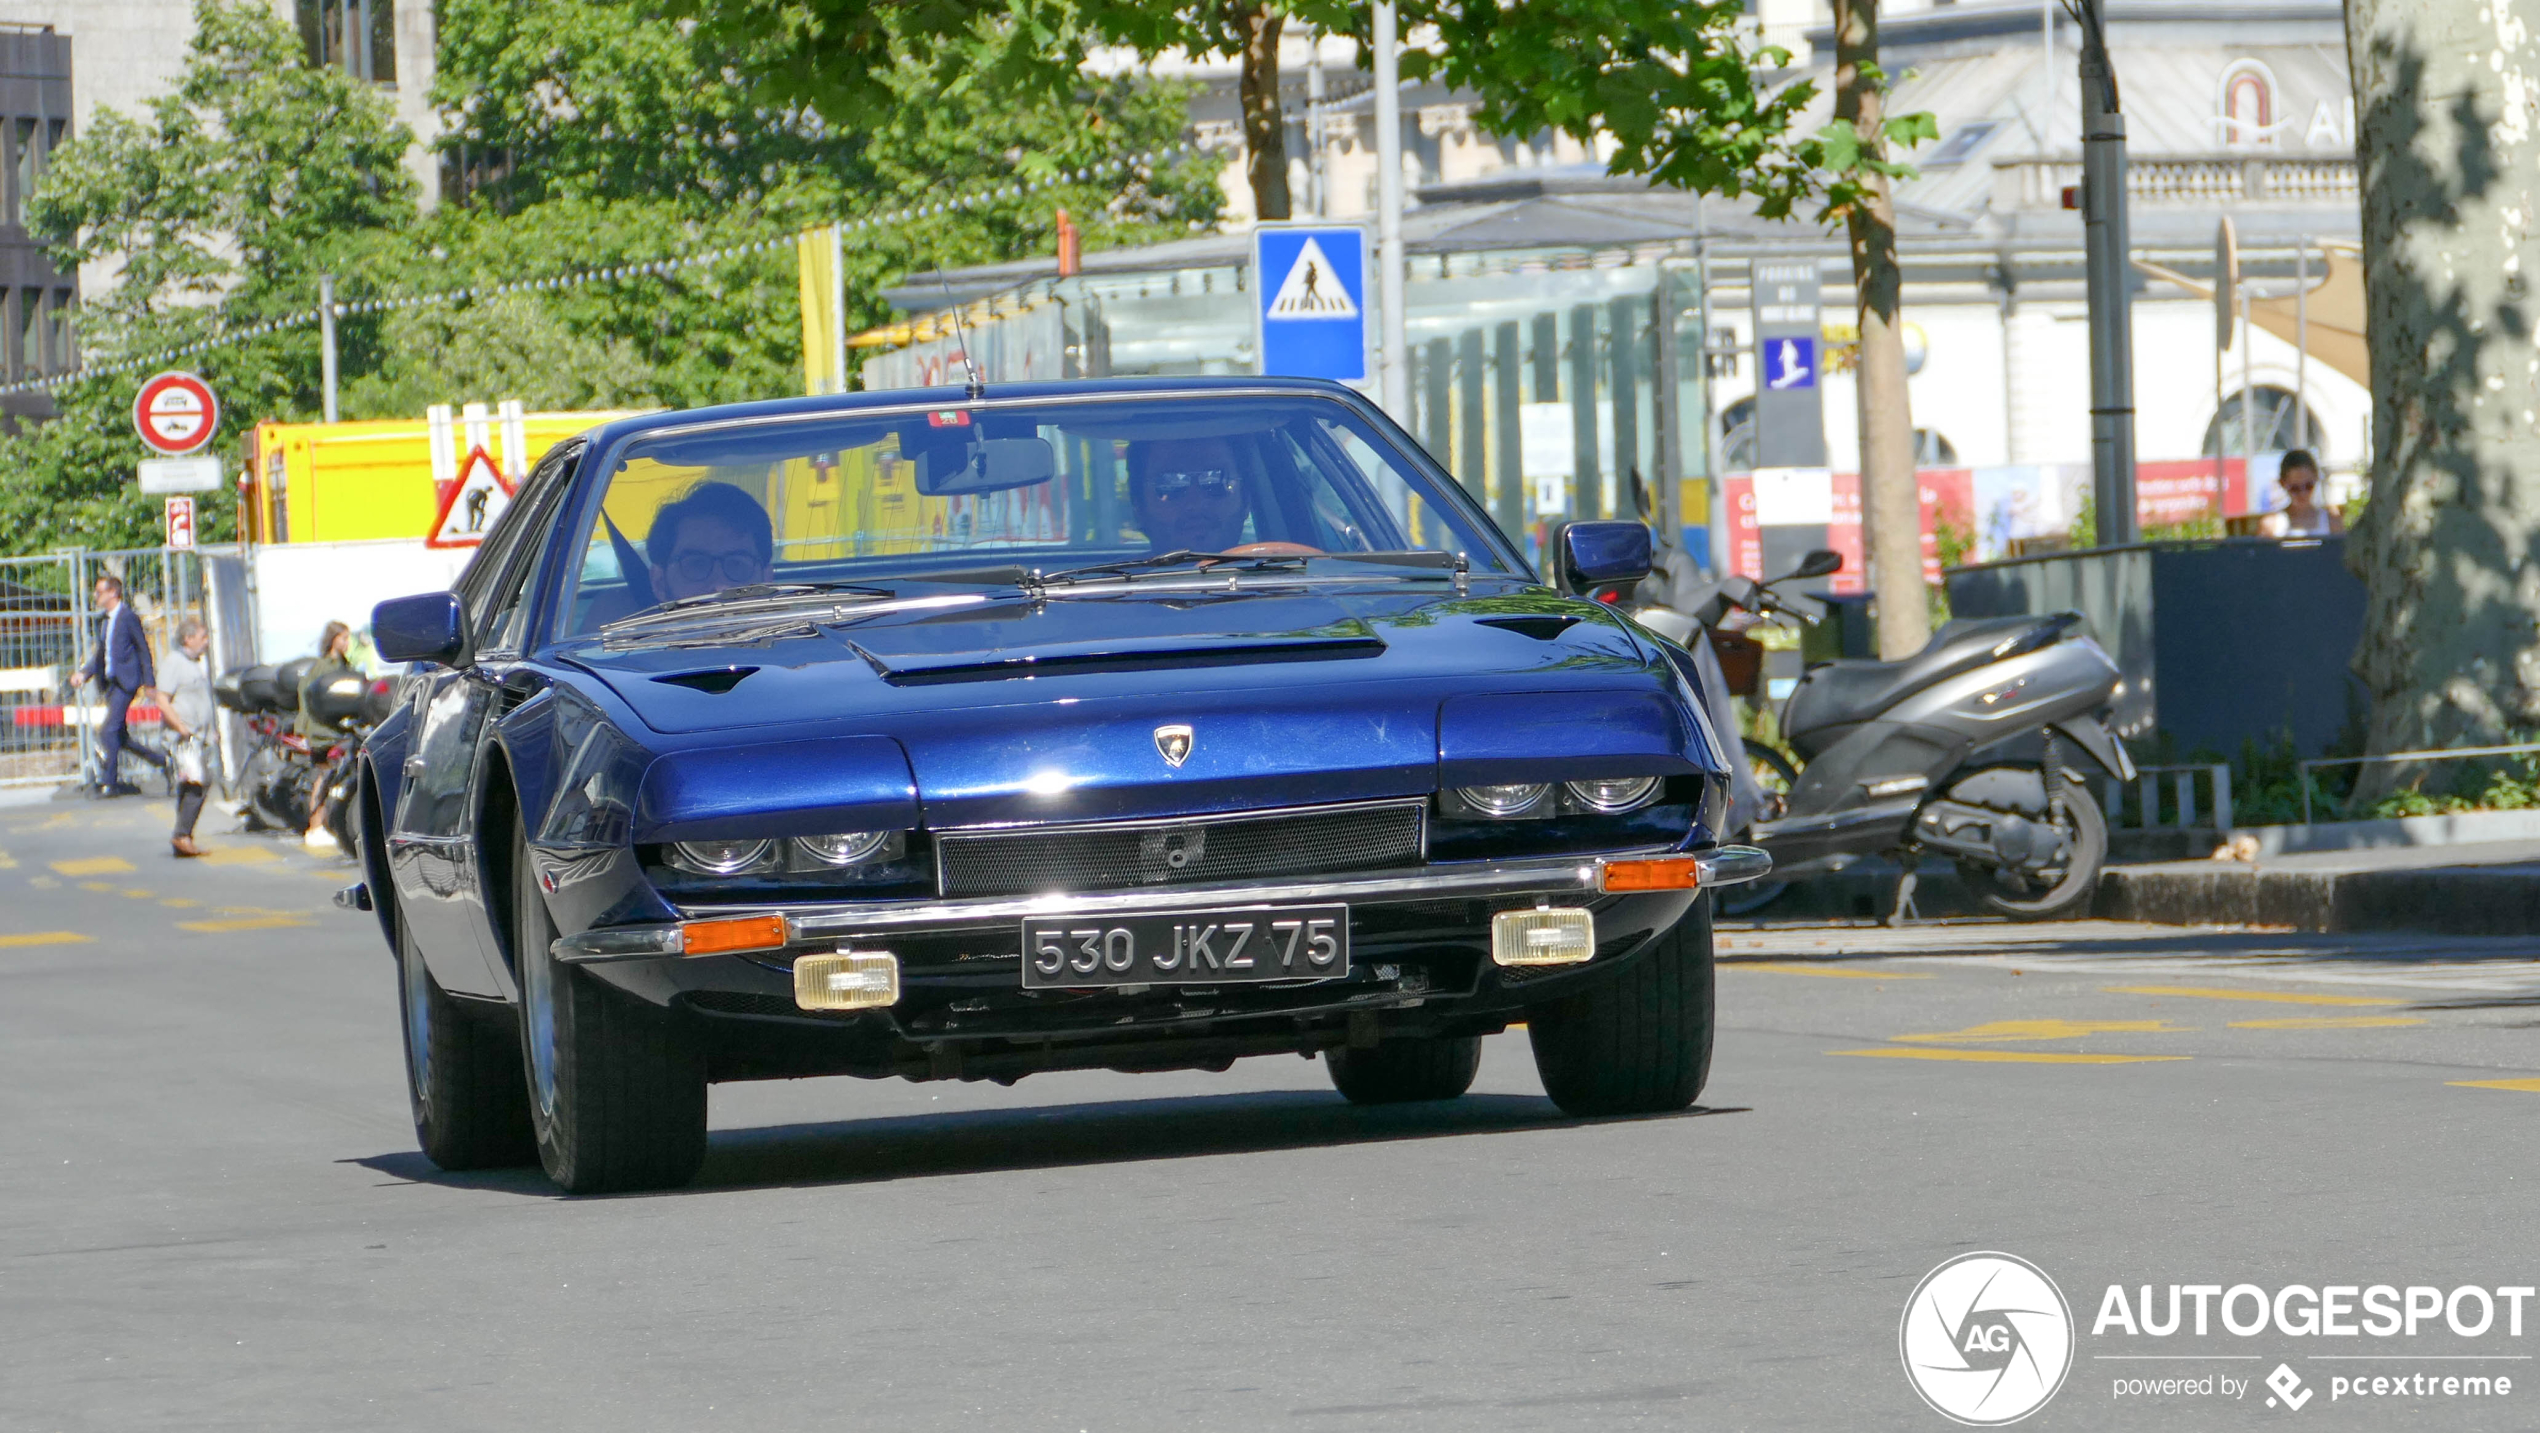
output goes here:
{"type": "Polygon", "coordinates": [[[2098,544],[2136,541],[2134,274],[2126,241],[2126,117],[2101,0],[2080,5],[2080,224],[2090,295],[2090,493],[2098,544]]]}

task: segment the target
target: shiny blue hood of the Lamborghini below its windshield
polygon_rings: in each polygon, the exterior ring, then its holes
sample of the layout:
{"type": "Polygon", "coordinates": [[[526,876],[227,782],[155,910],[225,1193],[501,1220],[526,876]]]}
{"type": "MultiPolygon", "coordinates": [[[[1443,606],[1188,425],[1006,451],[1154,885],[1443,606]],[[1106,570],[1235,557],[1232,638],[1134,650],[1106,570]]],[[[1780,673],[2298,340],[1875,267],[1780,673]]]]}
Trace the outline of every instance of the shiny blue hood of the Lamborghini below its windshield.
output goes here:
{"type": "Polygon", "coordinates": [[[1453,696],[1674,686],[1610,612],[1539,589],[1016,595],[561,656],[673,737],[892,737],[935,826],[1425,793],[1453,696]],[[1194,732],[1179,765],[1168,727],[1194,732]]]}

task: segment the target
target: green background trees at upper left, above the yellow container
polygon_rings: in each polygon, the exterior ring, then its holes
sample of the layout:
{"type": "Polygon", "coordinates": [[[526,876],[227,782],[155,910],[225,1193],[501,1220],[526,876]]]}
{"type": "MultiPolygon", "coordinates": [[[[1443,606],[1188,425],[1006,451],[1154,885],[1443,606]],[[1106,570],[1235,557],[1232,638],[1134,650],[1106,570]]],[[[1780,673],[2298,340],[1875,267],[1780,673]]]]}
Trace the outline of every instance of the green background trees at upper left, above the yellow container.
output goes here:
{"type": "MultiPolygon", "coordinates": [[[[30,219],[61,264],[104,262],[81,353],[165,351],[310,320],[318,277],[361,305],[488,290],[724,249],[952,193],[1166,150],[1184,94],[1090,84],[1064,94],[952,74],[945,56],[876,76],[859,124],[765,99],[714,33],[602,0],[444,0],[444,152],[500,152],[508,173],[414,206],[409,135],[373,86],[312,66],[264,0],[198,0],[178,89],[140,117],[97,112],[64,145],[30,219]],[[947,79],[950,76],[950,79],[947,79]]],[[[1130,183],[1052,183],[848,252],[853,323],[909,269],[1046,254],[1067,206],[1087,249],[1189,234],[1217,219],[1201,158],[1130,183]]],[[[800,391],[792,244],[671,274],[472,297],[340,320],[343,417],[419,417],[437,401],[533,409],[696,407],[800,391]]],[[[218,450],[262,419],[320,409],[315,323],[224,340],[183,366],[226,404],[218,450]]],[[[157,534],[140,498],[132,391],[145,373],[58,389],[61,419],[0,437],[0,551],[127,546],[157,534]]],[[[229,531],[206,503],[203,539],[229,531]]]]}

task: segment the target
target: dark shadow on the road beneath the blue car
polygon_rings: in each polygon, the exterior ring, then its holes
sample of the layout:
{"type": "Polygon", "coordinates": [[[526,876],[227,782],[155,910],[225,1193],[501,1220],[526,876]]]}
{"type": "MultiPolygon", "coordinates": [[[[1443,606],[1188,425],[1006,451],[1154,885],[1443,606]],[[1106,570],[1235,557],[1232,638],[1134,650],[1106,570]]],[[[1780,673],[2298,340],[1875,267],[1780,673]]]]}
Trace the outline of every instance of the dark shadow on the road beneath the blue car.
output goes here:
{"type": "MultiPolygon", "coordinates": [[[[1636,1123],[1742,1113],[1748,1110],[1694,1105],[1674,1115],[1643,1115],[1636,1123]]],[[[1425,1105],[1361,1108],[1339,1095],[1306,1090],[960,1110],[716,1131],[706,1154],[706,1171],[696,1184],[668,1189],[665,1194],[876,1184],[942,1174],[1006,1174],[1206,1154],[1273,1154],[1285,1148],[1588,1128],[1598,1123],[1626,1120],[1575,1120],[1542,1095],[1466,1095],[1463,1100],[1425,1105]]],[[[444,1174],[414,1151],[376,1154],[351,1164],[419,1184],[556,1197],[556,1187],[536,1169],[444,1174]]]]}

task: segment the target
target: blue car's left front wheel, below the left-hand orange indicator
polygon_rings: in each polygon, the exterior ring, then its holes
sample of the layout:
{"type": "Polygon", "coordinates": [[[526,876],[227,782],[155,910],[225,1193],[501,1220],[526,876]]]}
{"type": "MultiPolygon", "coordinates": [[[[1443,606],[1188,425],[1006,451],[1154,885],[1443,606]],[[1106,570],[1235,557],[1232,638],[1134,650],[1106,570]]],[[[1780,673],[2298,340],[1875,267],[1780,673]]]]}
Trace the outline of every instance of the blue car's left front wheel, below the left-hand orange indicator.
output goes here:
{"type": "Polygon", "coordinates": [[[538,1164],[566,1194],[676,1189],[706,1164],[706,1062],[671,1011],[554,958],[556,922],[511,846],[521,1070],[538,1164]]]}

